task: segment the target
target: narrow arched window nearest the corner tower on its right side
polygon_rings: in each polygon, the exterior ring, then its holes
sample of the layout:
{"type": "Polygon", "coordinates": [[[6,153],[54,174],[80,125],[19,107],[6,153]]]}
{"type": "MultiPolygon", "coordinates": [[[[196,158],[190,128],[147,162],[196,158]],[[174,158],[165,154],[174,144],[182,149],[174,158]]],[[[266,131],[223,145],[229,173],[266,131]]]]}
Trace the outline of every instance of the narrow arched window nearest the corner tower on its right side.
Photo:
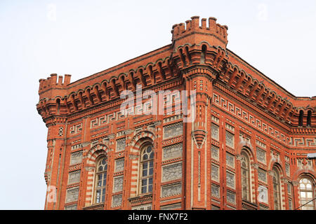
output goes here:
{"type": "Polygon", "coordinates": [[[241,169],[242,169],[242,200],[250,201],[250,178],[249,178],[249,157],[242,151],[241,169]]]}

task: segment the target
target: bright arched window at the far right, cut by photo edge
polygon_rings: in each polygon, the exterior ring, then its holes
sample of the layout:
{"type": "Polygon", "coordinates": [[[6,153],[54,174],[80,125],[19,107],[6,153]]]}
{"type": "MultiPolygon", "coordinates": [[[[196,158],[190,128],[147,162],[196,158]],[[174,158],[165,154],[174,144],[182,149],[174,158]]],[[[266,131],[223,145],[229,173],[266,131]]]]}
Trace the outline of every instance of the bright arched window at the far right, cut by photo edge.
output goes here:
{"type": "Polygon", "coordinates": [[[301,205],[305,204],[301,207],[302,210],[315,210],[314,185],[308,177],[303,177],[300,180],[300,196],[301,205]]]}

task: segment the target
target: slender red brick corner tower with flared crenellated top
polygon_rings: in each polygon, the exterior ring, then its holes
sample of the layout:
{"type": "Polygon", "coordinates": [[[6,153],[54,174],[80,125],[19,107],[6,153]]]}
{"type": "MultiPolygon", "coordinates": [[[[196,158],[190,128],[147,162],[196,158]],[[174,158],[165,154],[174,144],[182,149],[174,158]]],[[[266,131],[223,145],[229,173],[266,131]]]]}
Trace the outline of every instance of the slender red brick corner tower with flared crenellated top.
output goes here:
{"type": "Polygon", "coordinates": [[[213,80],[228,62],[227,26],[216,18],[193,16],[173,25],[172,59],[178,67],[185,90],[196,91],[196,119],[185,123],[185,209],[208,209],[211,188],[211,96],[213,80]],[[207,24],[208,23],[208,24],[207,24]]]}

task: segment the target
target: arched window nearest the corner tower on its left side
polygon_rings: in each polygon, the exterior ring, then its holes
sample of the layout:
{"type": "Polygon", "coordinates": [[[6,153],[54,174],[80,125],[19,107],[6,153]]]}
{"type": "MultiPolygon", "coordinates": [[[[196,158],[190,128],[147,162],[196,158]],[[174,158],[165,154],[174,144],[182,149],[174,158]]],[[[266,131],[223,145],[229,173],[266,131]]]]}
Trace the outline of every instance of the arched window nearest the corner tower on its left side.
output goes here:
{"type": "Polygon", "coordinates": [[[140,158],[140,193],[152,192],[152,174],[154,172],[154,152],[152,145],[143,147],[140,158]]]}

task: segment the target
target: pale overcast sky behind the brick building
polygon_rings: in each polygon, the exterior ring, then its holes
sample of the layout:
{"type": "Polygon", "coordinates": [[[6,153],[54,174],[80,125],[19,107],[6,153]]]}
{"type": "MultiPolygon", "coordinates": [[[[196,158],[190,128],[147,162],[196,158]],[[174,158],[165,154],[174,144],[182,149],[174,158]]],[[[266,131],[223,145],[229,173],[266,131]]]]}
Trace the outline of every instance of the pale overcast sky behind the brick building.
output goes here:
{"type": "Polygon", "coordinates": [[[228,25],[228,48],[295,96],[316,95],[316,1],[0,1],[0,209],[44,209],[39,78],[72,82],[171,43],[193,15],[228,25]]]}

